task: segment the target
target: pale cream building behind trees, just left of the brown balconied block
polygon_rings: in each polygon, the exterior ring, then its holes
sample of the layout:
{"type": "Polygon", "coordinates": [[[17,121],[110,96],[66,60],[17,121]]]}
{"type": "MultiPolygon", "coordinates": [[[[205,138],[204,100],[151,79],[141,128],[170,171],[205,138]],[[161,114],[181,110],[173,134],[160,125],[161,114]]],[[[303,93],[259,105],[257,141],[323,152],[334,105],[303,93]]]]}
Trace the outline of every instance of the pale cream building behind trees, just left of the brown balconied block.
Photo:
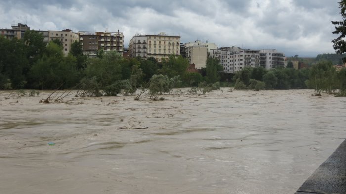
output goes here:
{"type": "MultiPolygon", "coordinates": [[[[77,40],[78,41],[78,34],[74,33],[70,29],[65,29],[62,31],[49,31],[48,41],[52,41],[55,39],[58,39],[61,41],[63,46],[63,52],[64,55],[67,56],[68,53],[71,50],[71,44],[77,40]]],[[[44,36],[44,32],[43,32],[44,36]]]]}

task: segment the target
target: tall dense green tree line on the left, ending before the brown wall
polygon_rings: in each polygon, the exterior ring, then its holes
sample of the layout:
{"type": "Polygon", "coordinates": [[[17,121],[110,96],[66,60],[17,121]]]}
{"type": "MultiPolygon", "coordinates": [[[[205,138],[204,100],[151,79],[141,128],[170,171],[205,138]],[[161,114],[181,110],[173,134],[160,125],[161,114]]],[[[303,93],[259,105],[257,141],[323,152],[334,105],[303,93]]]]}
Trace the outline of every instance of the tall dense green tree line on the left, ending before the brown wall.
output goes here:
{"type": "Polygon", "coordinates": [[[133,92],[160,74],[176,80],[175,87],[192,87],[220,79],[220,65],[215,59],[208,59],[203,77],[188,72],[188,60],[181,56],[170,56],[159,63],[155,58],[127,59],[116,52],[98,51],[96,58],[88,58],[78,41],[65,56],[59,40],[46,44],[42,34],[35,31],[25,32],[23,39],[0,36],[0,52],[0,89],[92,88],[100,94],[115,95],[123,89],[133,92]]]}

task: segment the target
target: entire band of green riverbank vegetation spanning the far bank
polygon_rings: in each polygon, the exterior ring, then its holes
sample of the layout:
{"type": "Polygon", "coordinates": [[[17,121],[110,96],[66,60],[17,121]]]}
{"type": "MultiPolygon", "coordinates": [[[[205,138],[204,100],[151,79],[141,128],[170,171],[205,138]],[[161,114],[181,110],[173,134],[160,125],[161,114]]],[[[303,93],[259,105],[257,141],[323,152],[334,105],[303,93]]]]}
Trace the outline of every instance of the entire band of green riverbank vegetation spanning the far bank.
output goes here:
{"type": "Polygon", "coordinates": [[[114,96],[148,88],[154,100],[179,87],[191,88],[191,94],[205,94],[220,86],[241,90],[314,88],[317,95],[322,91],[337,96],[346,93],[345,69],[337,71],[326,60],[301,70],[256,67],[227,74],[220,73],[222,66],[216,59],[208,58],[206,68],[197,73],[187,71],[188,60],[181,56],[159,63],[155,58],[123,58],[116,52],[99,51],[97,57],[89,58],[78,41],[68,55],[61,45],[59,40],[45,44],[35,31],[25,32],[20,40],[0,36],[0,89],[75,89],[77,96],[114,96]]]}

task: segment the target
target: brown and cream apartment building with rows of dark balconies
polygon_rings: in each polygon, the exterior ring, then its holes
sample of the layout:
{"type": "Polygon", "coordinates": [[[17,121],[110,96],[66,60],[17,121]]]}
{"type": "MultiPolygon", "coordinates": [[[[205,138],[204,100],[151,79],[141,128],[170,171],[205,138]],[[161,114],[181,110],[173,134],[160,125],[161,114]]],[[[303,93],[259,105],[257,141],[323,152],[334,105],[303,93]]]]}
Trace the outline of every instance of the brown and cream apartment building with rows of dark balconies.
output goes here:
{"type": "Polygon", "coordinates": [[[83,54],[96,57],[98,50],[117,51],[121,55],[124,51],[124,35],[122,32],[78,32],[79,41],[83,45],[83,54]]]}

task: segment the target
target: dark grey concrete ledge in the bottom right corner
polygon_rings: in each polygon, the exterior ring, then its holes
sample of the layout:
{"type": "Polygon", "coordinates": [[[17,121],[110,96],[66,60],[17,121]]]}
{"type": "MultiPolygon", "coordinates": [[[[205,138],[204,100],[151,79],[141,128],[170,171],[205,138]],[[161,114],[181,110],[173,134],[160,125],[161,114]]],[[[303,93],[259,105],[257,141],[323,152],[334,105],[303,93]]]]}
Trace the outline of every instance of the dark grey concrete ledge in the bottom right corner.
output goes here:
{"type": "Polygon", "coordinates": [[[346,194],[346,140],[295,194],[346,194]]]}

